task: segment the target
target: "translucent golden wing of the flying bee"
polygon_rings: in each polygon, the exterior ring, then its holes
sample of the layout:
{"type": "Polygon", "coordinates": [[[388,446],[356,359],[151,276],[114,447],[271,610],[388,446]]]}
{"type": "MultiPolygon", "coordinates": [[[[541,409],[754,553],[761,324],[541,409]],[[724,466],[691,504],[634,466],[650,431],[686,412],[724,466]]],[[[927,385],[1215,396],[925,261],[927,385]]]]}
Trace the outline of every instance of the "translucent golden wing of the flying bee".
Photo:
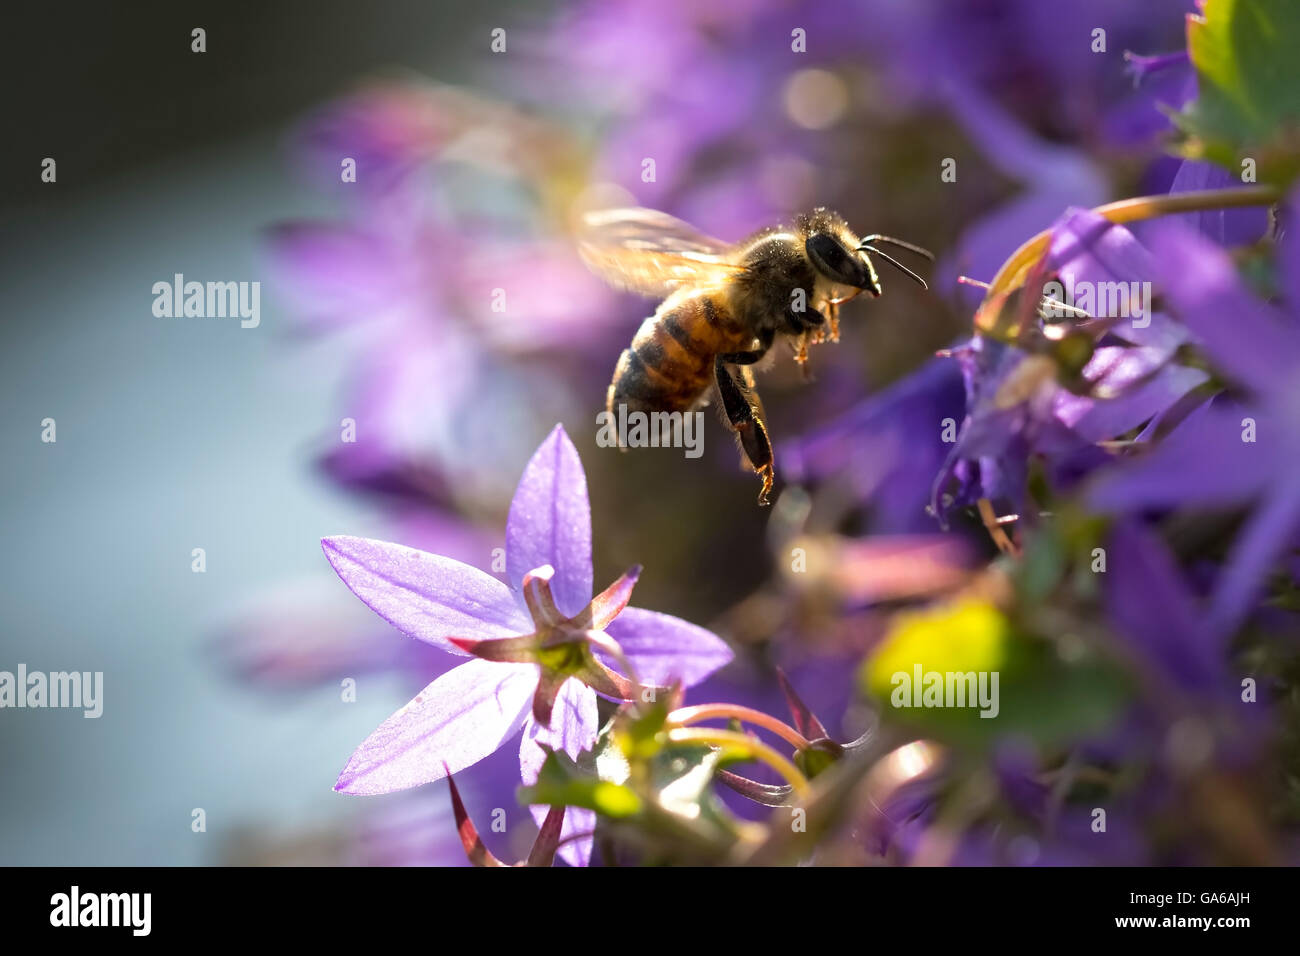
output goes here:
{"type": "Polygon", "coordinates": [[[664,298],[684,285],[712,285],[745,269],[734,250],[655,209],[602,209],[582,217],[578,252],[610,285],[664,298]]]}

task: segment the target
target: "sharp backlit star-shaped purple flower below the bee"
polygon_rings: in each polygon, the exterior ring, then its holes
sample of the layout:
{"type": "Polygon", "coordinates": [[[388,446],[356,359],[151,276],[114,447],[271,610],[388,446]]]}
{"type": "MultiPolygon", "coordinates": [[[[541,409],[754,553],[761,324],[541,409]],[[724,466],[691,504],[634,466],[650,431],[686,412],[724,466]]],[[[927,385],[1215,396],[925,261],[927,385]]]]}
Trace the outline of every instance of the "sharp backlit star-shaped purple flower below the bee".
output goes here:
{"type": "MultiPolygon", "coordinates": [[[[356,749],[334,790],[387,793],[476,763],[524,730],[520,770],[532,784],[543,748],[577,757],[597,736],[595,693],[620,698],[632,675],[696,684],[732,653],[714,633],[627,602],[640,568],[593,600],[592,509],[577,450],[559,425],[533,454],[506,525],[511,587],[459,561],[359,537],[322,540],[334,571],[406,635],[474,654],[425,687],[356,749]],[[594,688],[594,689],[593,689],[594,688]]],[[[546,808],[533,808],[540,821],[546,808]]],[[[563,839],[594,817],[569,809],[563,839]]],[[[590,839],[564,843],[584,865],[590,839]]]]}

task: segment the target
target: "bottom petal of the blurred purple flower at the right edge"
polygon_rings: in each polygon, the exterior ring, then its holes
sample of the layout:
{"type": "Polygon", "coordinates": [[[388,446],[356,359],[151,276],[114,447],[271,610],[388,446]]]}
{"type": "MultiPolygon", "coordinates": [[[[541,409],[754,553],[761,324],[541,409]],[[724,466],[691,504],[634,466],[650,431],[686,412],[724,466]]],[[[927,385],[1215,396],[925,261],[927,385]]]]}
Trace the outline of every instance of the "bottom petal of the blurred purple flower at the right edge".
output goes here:
{"type": "MultiPolygon", "coordinates": [[[[1290,477],[1290,467],[1282,475],[1290,477]]],[[[1231,633],[1238,628],[1273,562],[1295,542],[1297,531],[1300,483],[1290,477],[1251,515],[1227,555],[1210,601],[1210,619],[1219,631],[1231,633]]]]}

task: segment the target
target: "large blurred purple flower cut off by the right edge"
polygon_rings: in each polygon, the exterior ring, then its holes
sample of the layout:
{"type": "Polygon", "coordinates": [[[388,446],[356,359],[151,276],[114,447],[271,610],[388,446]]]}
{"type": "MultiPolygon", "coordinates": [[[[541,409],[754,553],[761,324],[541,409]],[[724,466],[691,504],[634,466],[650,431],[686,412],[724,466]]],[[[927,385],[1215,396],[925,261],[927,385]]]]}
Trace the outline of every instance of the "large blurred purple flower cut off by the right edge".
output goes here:
{"type": "MultiPolygon", "coordinates": [[[[1295,216],[1292,196],[1287,213],[1295,216]]],[[[1252,505],[1210,598],[1209,620],[1232,631],[1269,567],[1300,537],[1300,237],[1278,247],[1290,311],[1254,298],[1231,259],[1176,224],[1154,233],[1165,297],[1210,362],[1245,394],[1190,415],[1149,454],[1098,479],[1093,507],[1134,512],[1252,505]]]]}

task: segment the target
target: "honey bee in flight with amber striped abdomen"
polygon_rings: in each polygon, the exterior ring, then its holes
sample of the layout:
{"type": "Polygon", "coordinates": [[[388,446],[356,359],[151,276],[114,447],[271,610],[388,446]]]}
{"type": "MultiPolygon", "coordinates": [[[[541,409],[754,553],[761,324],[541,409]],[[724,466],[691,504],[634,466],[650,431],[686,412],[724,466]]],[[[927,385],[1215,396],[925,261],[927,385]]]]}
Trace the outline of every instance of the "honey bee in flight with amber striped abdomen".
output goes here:
{"type": "Polygon", "coordinates": [[[606,411],[612,416],[625,406],[628,412],[688,412],[716,392],[763,481],[758,503],[767,505],[775,477],[772,444],[751,367],[777,336],[792,342],[800,364],[810,343],[838,341],[838,307],[863,291],[880,295],[870,256],[927,287],[879,245],[933,259],[888,235],[858,238],[838,215],[822,208],[789,229],[764,229],[738,245],[654,209],[588,213],[578,242],[588,267],[619,289],[663,299],[619,356],[606,411]]]}

